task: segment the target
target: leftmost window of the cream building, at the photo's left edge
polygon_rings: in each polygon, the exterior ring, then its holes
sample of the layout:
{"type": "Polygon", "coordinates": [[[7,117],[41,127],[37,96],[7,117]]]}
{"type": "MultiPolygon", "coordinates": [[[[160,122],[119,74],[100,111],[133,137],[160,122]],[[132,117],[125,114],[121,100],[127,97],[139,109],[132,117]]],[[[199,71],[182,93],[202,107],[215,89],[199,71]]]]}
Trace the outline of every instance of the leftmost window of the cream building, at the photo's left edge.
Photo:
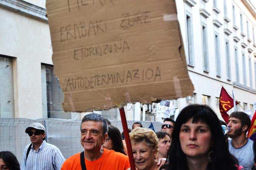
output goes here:
{"type": "Polygon", "coordinates": [[[0,56],[0,118],[14,118],[13,59],[0,56]]]}

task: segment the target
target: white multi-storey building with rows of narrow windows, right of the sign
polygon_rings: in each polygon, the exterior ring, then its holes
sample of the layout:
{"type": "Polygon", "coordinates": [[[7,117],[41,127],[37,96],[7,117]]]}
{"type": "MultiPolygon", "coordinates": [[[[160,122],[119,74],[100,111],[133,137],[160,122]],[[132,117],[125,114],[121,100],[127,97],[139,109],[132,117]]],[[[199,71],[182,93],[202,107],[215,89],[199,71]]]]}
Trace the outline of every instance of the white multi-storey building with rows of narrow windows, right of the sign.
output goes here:
{"type": "MultiPolygon", "coordinates": [[[[240,102],[239,111],[256,101],[256,8],[250,0],[176,0],[194,95],[177,107],[207,104],[219,118],[223,86],[240,102]],[[241,107],[242,106],[242,107],[241,107]]],[[[233,110],[230,110],[233,111],[233,110]]]]}

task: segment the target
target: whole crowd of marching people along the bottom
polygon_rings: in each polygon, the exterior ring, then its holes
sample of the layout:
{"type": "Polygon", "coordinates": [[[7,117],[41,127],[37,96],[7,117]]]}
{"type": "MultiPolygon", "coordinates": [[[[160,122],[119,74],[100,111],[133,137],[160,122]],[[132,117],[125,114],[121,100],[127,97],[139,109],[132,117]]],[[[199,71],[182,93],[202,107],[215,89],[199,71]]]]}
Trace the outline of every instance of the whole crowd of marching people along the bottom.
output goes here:
{"type": "MultiPolygon", "coordinates": [[[[143,128],[140,122],[129,132],[137,170],[256,170],[256,144],[246,138],[250,118],[244,112],[223,122],[206,105],[189,105],[176,121],[166,118],[161,131],[143,128]]],[[[119,129],[99,114],[85,115],[81,122],[84,150],[67,160],[44,139],[39,123],[26,128],[31,144],[24,149],[21,166],[9,151],[0,152],[0,170],[129,170],[127,147],[119,129]]]]}

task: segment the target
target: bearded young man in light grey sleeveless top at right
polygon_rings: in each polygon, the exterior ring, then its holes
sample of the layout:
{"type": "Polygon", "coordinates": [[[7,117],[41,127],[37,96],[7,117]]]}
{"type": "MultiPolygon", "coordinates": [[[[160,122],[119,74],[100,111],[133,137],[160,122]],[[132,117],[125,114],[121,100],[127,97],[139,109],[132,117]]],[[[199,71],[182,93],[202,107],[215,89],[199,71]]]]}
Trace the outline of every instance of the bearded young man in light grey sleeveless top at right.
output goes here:
{"type": "Polygon", "coordinates": [[[229,152],[236,157],[244,170],[251,170],[255,164],[254,142],[246,138],[250,124],[250,117],[244,112],[235,111],[229,115],[229,152]]]}

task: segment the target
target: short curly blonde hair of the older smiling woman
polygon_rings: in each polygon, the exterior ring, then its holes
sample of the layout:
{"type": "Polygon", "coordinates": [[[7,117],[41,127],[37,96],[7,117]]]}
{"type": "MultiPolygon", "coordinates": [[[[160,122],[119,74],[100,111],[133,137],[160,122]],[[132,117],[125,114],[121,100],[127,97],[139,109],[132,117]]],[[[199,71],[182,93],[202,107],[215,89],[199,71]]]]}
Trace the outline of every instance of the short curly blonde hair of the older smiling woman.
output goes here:
{"type": "Polygon", "coordinates": [[[134,142],[146,142],[149,145],[149,148],[153,152],[157,152],[158,149],[158,138],[154,131],[148,128],[134,128],[129,133],[131,141],[134,142]]]}

